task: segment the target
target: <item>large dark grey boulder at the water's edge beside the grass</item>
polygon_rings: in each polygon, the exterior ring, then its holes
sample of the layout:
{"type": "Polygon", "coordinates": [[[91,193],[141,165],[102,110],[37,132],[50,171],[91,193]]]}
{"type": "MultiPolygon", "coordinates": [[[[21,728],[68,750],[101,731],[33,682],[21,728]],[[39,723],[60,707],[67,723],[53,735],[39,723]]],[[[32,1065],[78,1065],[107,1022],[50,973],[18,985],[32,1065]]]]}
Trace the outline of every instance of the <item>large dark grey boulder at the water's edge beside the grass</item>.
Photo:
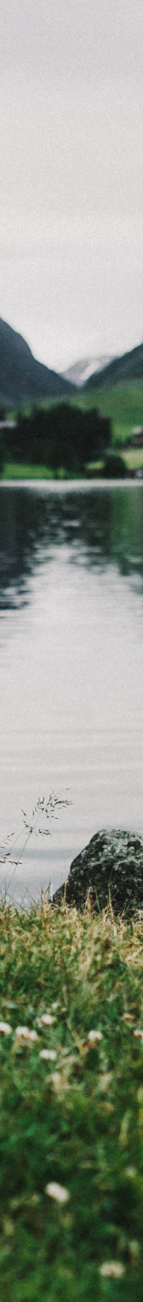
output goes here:
{"type": "Polygon", "coordinates": [[[109,900],[117,913],[143,909],[143,837],[134,832],[96,832],[86,849],[73,859],[66,887],[53,896],[83,909],[87,892],[92,905],[104,909],[109,900]]]}

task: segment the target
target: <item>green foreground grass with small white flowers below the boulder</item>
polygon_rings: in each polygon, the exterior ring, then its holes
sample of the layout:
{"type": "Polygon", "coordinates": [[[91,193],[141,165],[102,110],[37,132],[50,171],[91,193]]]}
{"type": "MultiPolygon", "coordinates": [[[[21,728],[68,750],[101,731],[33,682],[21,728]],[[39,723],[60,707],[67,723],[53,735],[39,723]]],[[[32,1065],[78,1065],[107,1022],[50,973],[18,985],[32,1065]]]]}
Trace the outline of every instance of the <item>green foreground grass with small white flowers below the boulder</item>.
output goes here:
{"type": "Polygon", "coordinates": [[[1,904],[0,1021],[1,1302],[142,1302],[142,917],[1,904]]]}

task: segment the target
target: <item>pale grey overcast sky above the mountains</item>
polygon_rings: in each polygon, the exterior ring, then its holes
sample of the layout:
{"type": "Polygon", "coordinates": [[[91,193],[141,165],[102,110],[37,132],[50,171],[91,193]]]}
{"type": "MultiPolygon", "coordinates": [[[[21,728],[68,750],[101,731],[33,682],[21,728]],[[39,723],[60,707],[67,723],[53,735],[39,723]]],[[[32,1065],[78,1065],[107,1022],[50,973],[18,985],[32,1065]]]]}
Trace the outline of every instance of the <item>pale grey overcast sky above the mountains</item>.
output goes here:
{"type": "Polygon", "coordinates": [[[1,0],[0,315],[47,365],[143,339],[142,0],[1,0]]]}

